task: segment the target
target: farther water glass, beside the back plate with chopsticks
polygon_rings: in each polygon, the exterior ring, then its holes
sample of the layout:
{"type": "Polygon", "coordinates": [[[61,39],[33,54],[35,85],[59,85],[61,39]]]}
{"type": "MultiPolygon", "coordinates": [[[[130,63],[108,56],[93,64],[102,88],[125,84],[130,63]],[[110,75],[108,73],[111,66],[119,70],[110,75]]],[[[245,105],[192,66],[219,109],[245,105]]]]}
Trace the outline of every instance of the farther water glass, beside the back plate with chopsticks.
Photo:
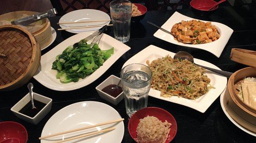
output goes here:
{"type": "Polygon", "coordinates": [[[128,42],[131,28],[131,2],[114,0],[109,5],[115,39],[123,43],[128,42]]]}

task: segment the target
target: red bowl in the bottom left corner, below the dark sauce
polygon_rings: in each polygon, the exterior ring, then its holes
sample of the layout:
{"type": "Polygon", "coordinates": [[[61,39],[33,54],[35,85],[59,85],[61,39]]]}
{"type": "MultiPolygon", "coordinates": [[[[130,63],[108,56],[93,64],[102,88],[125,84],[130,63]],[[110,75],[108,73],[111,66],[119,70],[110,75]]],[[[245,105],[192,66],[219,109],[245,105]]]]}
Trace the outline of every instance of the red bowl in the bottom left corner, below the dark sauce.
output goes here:
{"type": "Polygon", "coordinates": [[[20,143],[26,143],[28,133],[24,126],[16,122],[1,122],[0,123],[0,142],[8,138],[17,138],[20,143]]]}

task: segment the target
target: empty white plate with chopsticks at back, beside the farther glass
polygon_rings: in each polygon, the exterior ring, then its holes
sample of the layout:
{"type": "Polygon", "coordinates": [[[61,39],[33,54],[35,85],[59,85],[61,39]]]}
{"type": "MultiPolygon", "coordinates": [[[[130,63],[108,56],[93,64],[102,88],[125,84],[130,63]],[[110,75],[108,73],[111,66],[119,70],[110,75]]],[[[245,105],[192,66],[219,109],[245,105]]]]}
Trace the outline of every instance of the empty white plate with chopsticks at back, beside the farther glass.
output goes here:
{"type": "MultiPolygon", "coordinates": [[[[60,22],[80,22],[80,21],[96,21],[96,20],[110,20],[108,14],[103,11],[95,9],[80,9],[76,11],[71,11],[61,17],[60,22]]],[[[60,24],[61,28],[71,28],[79,26],[93,26],[93,25],[108,25],[110,22],[88,22],[88,23],[75,23],[75,24],[60,24]]],[[[70,29],[66,30],[71,33],[81,33],[84,31],[95,31],[101,27],[94,28],[80,28],[80,29],[70,29]]]]}

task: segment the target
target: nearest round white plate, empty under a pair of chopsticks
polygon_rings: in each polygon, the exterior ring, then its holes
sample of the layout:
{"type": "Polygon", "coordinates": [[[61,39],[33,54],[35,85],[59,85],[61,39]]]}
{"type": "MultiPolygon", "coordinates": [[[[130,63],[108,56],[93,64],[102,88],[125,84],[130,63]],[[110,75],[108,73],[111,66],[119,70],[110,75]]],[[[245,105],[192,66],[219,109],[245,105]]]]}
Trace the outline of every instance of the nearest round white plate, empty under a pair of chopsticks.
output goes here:
{"type": "MultiPolygon", "coordinates": [[[[41,136],[52,135],[57,132],[64,132],[67,130],[95,125],[97,123],[103,123],[119,118],[122,118],[119,113],[107,104],[95,101],[78,102],[64,107],[52,115],[52,117],[44,125],[41,136]]],[[[55,137],[49,137],[41,140],[41,143],[52,143],[54,141],[64,140],[67,137],[102,130],[108,127],[115,127],[116,129],[99,135],[70,140],[65,143],[121,143],[125,132],[123,121],[98,126],[96,128],[85,129],[78,132],[58,135],[55,137]]]]}

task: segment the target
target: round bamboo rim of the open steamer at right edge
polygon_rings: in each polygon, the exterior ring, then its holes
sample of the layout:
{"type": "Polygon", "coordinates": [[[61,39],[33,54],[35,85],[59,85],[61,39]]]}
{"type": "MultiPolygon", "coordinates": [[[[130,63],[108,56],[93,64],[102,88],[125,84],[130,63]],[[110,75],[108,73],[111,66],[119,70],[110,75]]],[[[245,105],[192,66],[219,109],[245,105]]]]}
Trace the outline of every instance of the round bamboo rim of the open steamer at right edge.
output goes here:
{"type": "MultiPolygon", "coordinates": [[[[243,69],[240,69],[240,70],[237,70],[235,73],[233,73],[231,76],[230,76],[230,79],[228,80],[228,83],[227,83],[227,87],[228,87],[228,92],[230,94],[230,97],[232,98],[232,100],[234,101],[234,103],[239,106],[244,112],[247,112],[248,114],[256,117],[256,109],[254,109],[253,107],[250,107],[249,105],[245,104],[244,101],[242,101],[238,95],[234,92],[234,85],[235,85],[235,82],[234,81],[234,78],[235,76],[242,72],[243,70],[248,70],[250,68],[255,68],[256,67],[246,67],[246,68],[243,68],[243,69]]],[[[241,80],[241,79],[239,79],[241,80]]]]}

